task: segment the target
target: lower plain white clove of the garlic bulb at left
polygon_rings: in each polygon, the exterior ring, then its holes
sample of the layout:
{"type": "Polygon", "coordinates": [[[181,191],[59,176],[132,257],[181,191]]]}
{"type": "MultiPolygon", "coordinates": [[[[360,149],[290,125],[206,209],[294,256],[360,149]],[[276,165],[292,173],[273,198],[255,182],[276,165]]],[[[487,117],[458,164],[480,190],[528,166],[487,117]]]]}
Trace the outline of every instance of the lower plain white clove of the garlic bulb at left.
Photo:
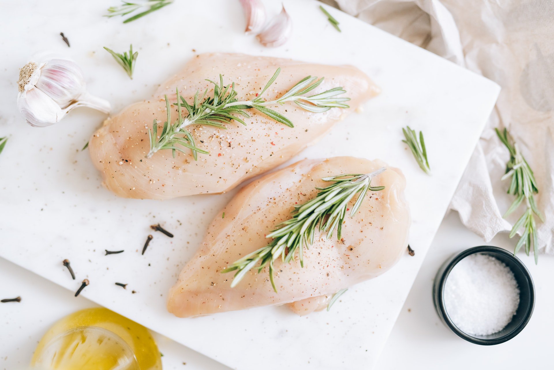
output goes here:
{"type": "Polygon", "coordinates": [[[37,88],[20,92],[17,98],[17,108],[27,122],[35,127],[53,125],[65,115],[54,99],[37,88]]]}

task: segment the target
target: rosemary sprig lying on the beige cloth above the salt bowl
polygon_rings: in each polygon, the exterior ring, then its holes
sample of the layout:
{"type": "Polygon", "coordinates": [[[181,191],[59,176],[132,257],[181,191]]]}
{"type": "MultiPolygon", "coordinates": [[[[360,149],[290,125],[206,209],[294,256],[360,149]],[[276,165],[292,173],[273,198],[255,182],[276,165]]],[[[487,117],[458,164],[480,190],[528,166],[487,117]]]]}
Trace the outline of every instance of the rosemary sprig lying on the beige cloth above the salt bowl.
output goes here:
{"type": "Polygon", "coordinates": [[[506,163],[506,174],[502,176],[502,180],[509,179],[510,177],[512,178],[507,193],[516,197],[514,202],[512,202],[504,214],[504,217],[514,212],[524,200],[527,206],[524,214],[522,214],[519,220],[516,221],[510,231],[510,238],[512,238],[517,234],[517,231],[520,230],[521,227],[524,229],[520,240],[517,241],[514,254],[516,254],[521,247],[525,245],[525,253],[529,256],[532,245],[533,254],[535,255],[535,263],[538,263],[535,215],[538,216],[538,218],[543,222],[544,219],[541,212],[537,208],[537,203],[535,202],[535,194],[538,194],[537,181],[535,180],[535,175],[533,174],[529,163],[527,163],[524,156],[521,154],[515,140],[508,133],[508,130],[495,130],[496,135],[498,135],[500,141],[502,141],[502,144],[504,144],[510,152],[510,160],[506,163]]]}

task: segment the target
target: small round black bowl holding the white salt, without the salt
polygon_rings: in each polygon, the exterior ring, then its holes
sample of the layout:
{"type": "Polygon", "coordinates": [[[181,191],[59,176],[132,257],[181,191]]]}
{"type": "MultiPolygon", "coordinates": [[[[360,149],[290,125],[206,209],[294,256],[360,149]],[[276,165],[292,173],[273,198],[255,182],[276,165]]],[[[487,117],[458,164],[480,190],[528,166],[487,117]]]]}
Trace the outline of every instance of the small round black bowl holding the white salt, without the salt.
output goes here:
{"type": "Polygon", "coordinates": [[[527,322],[529,322],[533,313],[533,308],[535,307],[535,286],[533,285],[531,274],[519,258],[499,247],[484,245],[466,249],[465,251],[450,257],[450,259],[443,263],[437,272],[437,276],[435,277],[435,282],[433,284],[433,302],[440,319],[454,333],[458,334],[459,337],[464,338],[466,341],[471,343],[491,346],[493,344],[509,341],[511,338],[514,338],[517,334],[519,334],[519,332],[521,332],[527,325],[527,322]],[[489,255],[505,263],[505,265],[514,273],[514,277],[516,278],[517,285],[520,290],[520,303],[514,317],[512,318],[512,321],[510,321],[510,323],[501,331],[486,336],[474,336],[473,334],[467,334],[459,330],[458,327],[456,327],[450,320],[448,312],[444,307],[444,285],[450,271],[452,271],[452,268],[454,268],[456,263],[460,262],[464,259],[464,257],[474,253],[489,255]]]}

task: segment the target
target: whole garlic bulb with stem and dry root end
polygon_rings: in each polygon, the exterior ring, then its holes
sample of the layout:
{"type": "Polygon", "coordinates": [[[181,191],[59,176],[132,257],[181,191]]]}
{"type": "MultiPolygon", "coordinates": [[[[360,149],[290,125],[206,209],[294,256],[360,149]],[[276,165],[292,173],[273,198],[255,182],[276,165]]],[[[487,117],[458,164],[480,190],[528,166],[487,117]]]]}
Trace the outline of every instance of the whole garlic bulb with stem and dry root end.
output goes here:
{"type": "Polygon", "coordinates": [[[86,92],[79,66],[69,59],[45,56],[25,64],[19,72],[17,107],[36,127],[57,123],[77,107],[109,113],[110,103],[86,92]]]}

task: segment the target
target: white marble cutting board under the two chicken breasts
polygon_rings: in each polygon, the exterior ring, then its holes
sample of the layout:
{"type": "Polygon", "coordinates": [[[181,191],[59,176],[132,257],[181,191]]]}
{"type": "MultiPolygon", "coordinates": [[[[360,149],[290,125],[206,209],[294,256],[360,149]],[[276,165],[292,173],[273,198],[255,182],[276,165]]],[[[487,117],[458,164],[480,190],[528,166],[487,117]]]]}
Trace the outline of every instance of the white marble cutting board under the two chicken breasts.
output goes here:
{"type": "MultiPolygon", "coordinates": [[[[280,11],[279,2],[264,3],[270,13],[280,11]]],[[[3,5],[0,136],[8,135],[9,140],[0,155],[0,255],[68,288],[68,297],[83,278],[89,278],[90,286],[82,295],[230,367],[371,368],[499,87],[330,9],[341,22],[338,33],[312,0],[284,1],[294,21],[294,36],[276,49],[263,48],[243,34],[238,1],[177,1],[129,24],[101,17],[115,4],[117,0],[27,0],[3,5]],[[69,38],[71,48],[63,44],[59,32],[69,38]],[[122,52],[130,43],[139,51],[133,80],[102,49],[122,52]],[[410,244],[416,256],[406,254],[383,276],[351,288],[330,312],[298,317],[284,307],[265,307],[191,319],[173,317],[165,310],[166,292],[209,221],[235,191],[141,201],[119,199],[103,189],[88,151],[81,148],[104,115],[75,110],[60,124],[37,129],[17,113],[18,68],[30,54],[44,49],[75,59],[90,92],[109,99],[114,112],[150,97],[196,53],[240,52],[356,65],[376,81],[382,94],[294,161],[355,155],[381,158],[401,168],[408,181],[410,244]],[[401,142],[401,128],[407,124],[424,131],[431,176],[418,168],[401,142]],[[148,226],[154,222],[161,222],[175,238],[156,233],[142,256],[143,242],[151,233],[148,226]],[[105,249],[125,252],[105,256],[105,249]],[[70,280],[63,259],[71,261],[78,280],[70,280]],[[122,290],[114,282],[129,285],[122,290]]]]}

